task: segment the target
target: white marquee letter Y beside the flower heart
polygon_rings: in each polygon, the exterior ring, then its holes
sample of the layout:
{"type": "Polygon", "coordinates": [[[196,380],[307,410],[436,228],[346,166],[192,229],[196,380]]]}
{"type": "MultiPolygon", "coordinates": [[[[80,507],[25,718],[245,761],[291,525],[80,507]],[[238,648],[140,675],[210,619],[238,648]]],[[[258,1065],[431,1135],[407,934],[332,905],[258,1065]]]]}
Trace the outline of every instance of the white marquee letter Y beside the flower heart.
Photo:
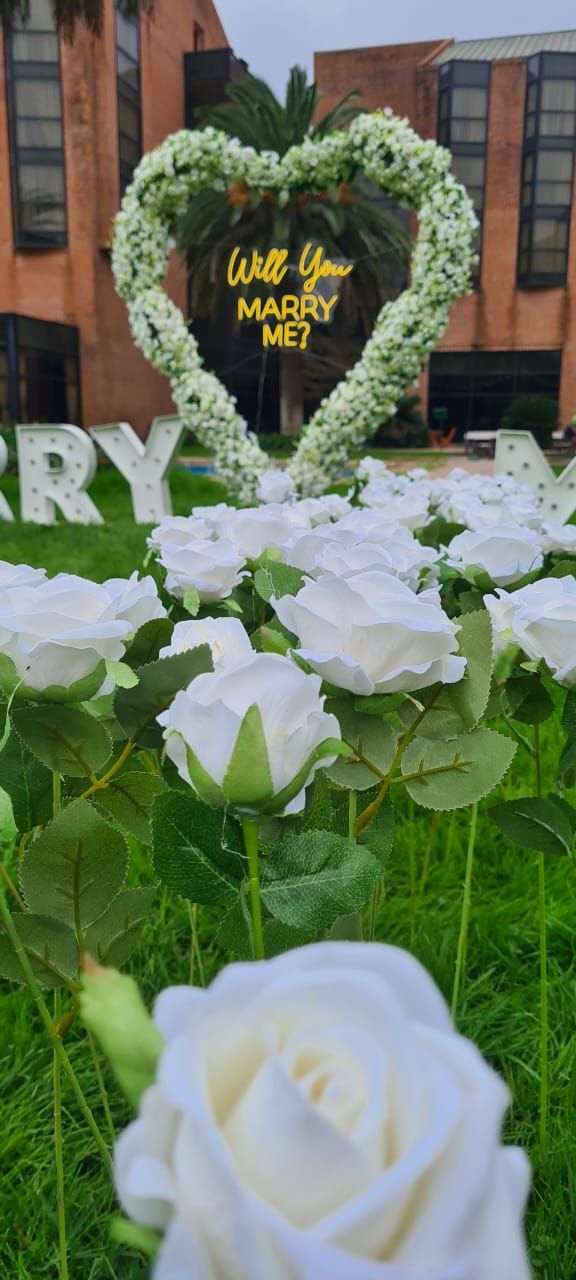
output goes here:
{"type": "Polygon", "coordinates": [[[184,434],[180,420],[155,417],[146,442],[140,439],[128,422],[91,426],[90,434],[128,481],[136,522],[147,525],[170,516],[166,475],[184,434]]]}

